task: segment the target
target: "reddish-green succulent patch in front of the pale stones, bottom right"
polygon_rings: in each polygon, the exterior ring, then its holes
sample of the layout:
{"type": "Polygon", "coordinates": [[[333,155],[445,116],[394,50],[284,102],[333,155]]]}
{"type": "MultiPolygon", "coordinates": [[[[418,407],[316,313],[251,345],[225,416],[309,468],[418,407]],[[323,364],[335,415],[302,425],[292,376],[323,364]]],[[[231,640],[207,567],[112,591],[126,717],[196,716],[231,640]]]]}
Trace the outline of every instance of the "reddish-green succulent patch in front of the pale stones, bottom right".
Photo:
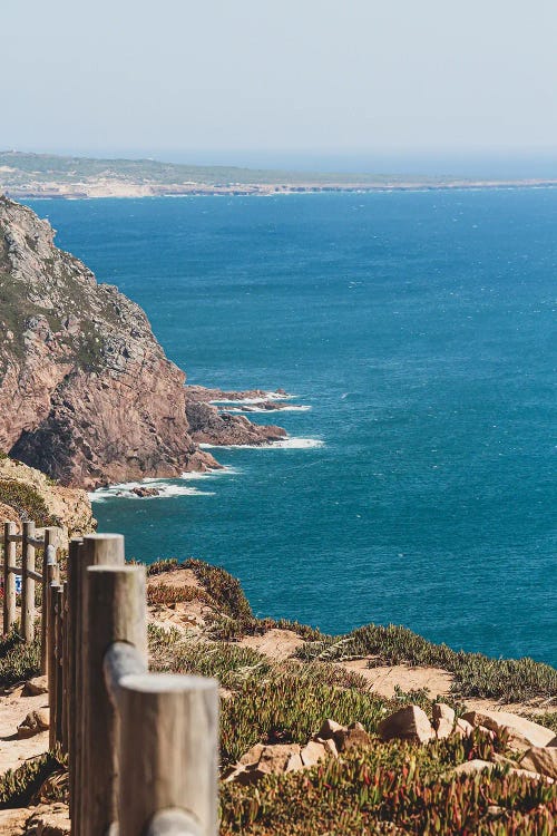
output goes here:
{"type": "Polygon", "coordinates": [[[352,836],[477,834],[550,836],[557,789],[505,774],[450,777],[468,759],[459,740],[418,747],[377,743],[257,789],[227,784],[221,835],[352,836]]]}

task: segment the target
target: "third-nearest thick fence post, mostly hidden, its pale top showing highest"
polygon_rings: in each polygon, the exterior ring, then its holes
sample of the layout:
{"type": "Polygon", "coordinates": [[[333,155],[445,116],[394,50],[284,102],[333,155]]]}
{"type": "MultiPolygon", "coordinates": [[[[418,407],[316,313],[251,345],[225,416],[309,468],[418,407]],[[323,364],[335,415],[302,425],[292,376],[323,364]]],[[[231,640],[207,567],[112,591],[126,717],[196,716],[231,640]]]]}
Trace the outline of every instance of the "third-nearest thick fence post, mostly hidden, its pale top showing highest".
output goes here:
{"type": "MultiPolygon", "coordinates": [[[[86,766],[86,739],[87,739],[87,706],[85,697],[85,674],[87,670],[87,643],[88,643],[88,619],[87,619],[87,567],[95,565],[123,566],[124,537],[121,534],[88,534],[84,537],[79,550],[80,557],[76,563],[78,568],[78,600],[76,603],[76,701],[75,701],[75,804],[72,836],[84,836],[86,827],[85,818],[85,794],[84,790],[90,782],[86,766]]],[[[96,629],[96,626],[95,626],[96,629]]]]}

